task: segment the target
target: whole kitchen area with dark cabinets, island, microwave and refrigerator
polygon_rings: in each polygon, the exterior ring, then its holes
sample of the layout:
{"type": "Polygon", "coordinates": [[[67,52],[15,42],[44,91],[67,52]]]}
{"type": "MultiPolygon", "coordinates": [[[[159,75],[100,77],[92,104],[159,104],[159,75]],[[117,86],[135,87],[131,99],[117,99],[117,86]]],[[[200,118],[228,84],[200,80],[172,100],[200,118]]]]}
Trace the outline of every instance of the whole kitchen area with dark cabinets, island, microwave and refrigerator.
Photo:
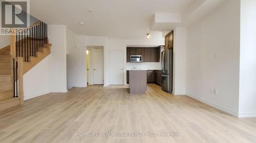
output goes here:
{"type": "Polygon", "coordinates": [[[131,94],[145,94],[147,83],[155,83],[167,93],[173,91],[173,31],[165,45],[126,47],[126,81],[131,94]]]}

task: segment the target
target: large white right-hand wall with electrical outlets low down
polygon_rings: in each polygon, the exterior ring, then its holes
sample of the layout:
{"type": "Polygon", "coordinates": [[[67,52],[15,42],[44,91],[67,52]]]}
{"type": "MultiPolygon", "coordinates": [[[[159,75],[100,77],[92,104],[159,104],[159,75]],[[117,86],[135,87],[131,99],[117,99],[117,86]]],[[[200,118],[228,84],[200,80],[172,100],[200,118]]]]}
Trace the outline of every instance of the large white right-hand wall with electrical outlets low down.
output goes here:
{"type": "Polygon", "coordinates": [[[238,116],[240,1],[187,27],[186,94],[238,116]],[[218,53],[218,58],[217,54],[218,53]],[[214,95],[209,89],[217,89],[214,95]]]}

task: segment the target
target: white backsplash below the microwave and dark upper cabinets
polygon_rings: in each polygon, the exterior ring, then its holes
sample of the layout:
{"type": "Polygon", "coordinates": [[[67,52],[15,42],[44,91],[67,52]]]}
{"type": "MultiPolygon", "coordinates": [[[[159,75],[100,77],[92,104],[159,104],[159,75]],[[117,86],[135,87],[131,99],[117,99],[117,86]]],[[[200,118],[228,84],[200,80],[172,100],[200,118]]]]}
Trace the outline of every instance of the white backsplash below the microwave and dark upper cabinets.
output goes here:
{"type": "Polygon", "coordinates": [[[127,70],[133,69],[133,67],[141,70],[161,70],[161,62],[126,63],[127,70]]]}

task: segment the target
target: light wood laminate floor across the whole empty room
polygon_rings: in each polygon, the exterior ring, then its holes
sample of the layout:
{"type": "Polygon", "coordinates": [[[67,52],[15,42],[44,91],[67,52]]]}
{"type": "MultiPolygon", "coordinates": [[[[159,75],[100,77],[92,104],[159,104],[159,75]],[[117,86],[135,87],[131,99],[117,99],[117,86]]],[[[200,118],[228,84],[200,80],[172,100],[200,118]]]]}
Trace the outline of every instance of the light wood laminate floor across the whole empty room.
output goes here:
{"type": "Polygon", "coordinates": [[[156,84],[146,95],[128,91],[89,86],[27,100],[0,112],[0,142],[256,142],[256,118],[238,119],[156,84]],[[123,134],[97,136],[103,132],[123,134]],[[179,135],[158,136],[169,132],[179,135]]]}

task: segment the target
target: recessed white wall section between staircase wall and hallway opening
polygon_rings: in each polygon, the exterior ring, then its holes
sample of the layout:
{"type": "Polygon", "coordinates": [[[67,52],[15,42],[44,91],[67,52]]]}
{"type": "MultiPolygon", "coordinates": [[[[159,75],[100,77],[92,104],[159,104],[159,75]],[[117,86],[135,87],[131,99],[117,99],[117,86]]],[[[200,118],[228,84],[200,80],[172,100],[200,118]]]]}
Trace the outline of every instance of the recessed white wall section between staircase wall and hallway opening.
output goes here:
{"type": "Polygon", "coordinates": [[[67,89],[87,87],[86,39],[67,28],[67,89]]]}

